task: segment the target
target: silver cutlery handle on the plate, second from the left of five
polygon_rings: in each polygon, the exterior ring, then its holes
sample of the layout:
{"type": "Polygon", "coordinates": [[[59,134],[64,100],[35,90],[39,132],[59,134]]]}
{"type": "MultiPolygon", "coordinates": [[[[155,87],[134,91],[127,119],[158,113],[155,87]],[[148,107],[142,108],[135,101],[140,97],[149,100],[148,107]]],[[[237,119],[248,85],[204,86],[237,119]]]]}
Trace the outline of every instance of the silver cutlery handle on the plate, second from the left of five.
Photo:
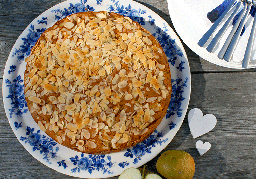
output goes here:
{"type": "MultiPolygon", "coordinates": [[[[242,2],[239,2],[236,6],[236,9],[234,10],[234,12],[232,13],[232,15],[228,18],[228,20],[225,22],[225,24],[222,26],[221,30],[218,31],[218,33],[215,35],[215,37],[212,39],[212,41],[210,42],[210,44],[207,46],[206,50],[208,52],[212,52],[213,49],[215,48],[215,46],[217,45],[217,43],[219,42],[219,40],[221,39],[221,37],[223,36],[223,34],[226,32],[227,28],[229,27],[230,23],[232,23],[232,20],[234,18],[234,16],[237,14],[238,10],[240,9],[240,7],[242,6],[242,2]]],[[[245,8],[246,9],[246,8],[245,8]]]]}

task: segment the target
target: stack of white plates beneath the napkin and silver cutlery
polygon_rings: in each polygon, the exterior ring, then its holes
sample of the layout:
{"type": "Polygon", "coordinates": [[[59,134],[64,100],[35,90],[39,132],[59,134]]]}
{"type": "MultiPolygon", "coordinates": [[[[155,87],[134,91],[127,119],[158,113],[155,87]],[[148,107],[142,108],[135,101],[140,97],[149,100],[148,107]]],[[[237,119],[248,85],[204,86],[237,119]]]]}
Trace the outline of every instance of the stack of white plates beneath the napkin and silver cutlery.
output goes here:
{"type": "MultiPolygon", "coordinates": [[[[205,48],[209,44],[205,44],[204,47],[200,47],[197,43],[204,35],[205,32],[212,26],[212,22],[207,18],[207,13],[216,8],[225,8],[222,6],[224,3],[230,3],[230,0],[209,0],[209,1],[197,1],[197,0],[168,0],[168,9],[172,23],[175,30],[183,40],[183,42],[196,54],[203,59],[214,63],[219,66],[228,68],[242,68],[242,59],[248,42],[248,38],[251,32],[253,17],[249,15],[246,22],[246,29],[243,35],[239,39],[236,51],[230,62],[218,58],[218,53],[221,50],[229,32],[232,29],[232,25],[227,29],[220,42],[215,47],[212,53],[208,52],[205,48]]],[[[243,6],[242,6],[243,7],[243,6]]],[[[242,8],[241,7],[241,8],[242,8]]],[[[232,11],[235,6],[232,7],[232,11]]],[[[230,12],[231,13],[231,12],[230,12]]],[[[213,36],[218,32],[225,22],[222,22],[213,36]]],[[[209,41],[209,40],[208,40],[209,41]]],[[[250,64],[248,68],[256,67],[256,40],[254,40],[253,51],[251,54],[250,64]]]]}

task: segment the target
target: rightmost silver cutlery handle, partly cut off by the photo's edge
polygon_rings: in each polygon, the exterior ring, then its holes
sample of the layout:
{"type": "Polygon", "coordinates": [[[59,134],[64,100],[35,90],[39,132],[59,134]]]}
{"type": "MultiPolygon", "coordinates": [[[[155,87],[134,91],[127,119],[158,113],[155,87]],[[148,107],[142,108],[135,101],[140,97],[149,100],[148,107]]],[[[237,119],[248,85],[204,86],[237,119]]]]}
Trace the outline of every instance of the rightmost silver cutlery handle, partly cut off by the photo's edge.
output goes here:
{"type": "Polygon", "coordinates": [[[250,33],[250,36],[249,36],[248,44],[247,44],[247,47],[246,47],[246,50],[245,50],[244,59],[243,59],[243,63],[242,63],[243,68],[248,68],[248,66],[249,66],[249,62],[250,62],[250,58],[251,58],[251,52],[252,52],[252,49],[253,49],[255,29],[256,29],[256,18],[255,18],[255,15],[254,15],[253,26],[252,26],[252,30],[251,30],[251,33],[250,33]]]}

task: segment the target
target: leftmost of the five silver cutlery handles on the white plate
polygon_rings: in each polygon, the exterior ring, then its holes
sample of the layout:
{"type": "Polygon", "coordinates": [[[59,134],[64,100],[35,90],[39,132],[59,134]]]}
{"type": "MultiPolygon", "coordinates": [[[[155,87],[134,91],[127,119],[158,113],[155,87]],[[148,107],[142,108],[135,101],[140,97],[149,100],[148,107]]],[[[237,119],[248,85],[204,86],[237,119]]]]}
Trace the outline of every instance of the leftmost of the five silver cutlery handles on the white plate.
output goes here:
{"type": "MultiPolygon", "coordinates": [[[[214,24],[210,27],[210,29],[202,36],[202,38],[198,41],[198,45],[200,47],[203,47],[204,44],[207,42],[207,40],[210,38],[210,36],[213,34],[213,32],[216,30],[218,25],[221,23],[222,19],[227,15],[228,11],[231,9],[231,7],[234,5],[234,3],[237,0],[233,0],[227,9],[219,16],[219,18],[214,22],[214,24]]],[[[239,0],[240,1],[240,0],[239,0]]]]}

